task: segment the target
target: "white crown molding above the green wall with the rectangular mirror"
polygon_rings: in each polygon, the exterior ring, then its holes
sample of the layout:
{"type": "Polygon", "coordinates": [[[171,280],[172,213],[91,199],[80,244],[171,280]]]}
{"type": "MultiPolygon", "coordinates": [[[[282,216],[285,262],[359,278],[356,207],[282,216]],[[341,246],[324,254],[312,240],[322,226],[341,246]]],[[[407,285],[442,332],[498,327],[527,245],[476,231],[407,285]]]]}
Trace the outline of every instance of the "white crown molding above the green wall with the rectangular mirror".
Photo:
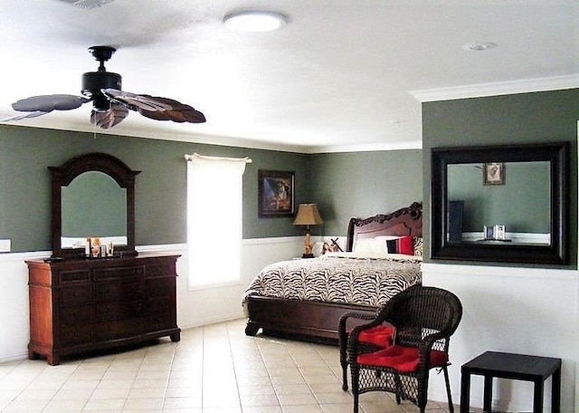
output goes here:
{"type": "Polygon", "coordinates": [[[579,88],[579,74],[548,78],[527,79],[512,82],[480,83],[449,88],[410,91],[420,102],[452,101],[456,99],[482,98],[534,91],[557,91],[579,88]]]}

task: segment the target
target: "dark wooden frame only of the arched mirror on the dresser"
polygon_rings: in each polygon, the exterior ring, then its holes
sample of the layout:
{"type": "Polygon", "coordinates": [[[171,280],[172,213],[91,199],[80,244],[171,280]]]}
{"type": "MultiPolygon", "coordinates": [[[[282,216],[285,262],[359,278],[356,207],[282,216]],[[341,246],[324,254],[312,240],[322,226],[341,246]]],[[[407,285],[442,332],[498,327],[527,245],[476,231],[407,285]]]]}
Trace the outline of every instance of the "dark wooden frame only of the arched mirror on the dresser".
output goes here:
{"type": "MultiPolygon", "coordinates": [[[[137,255],[135,250],[135,177],[140,171],[132,170],[119,158],[93,152],[71,158],[60,167],[48,167],[52,173],[52,256],[80,258],[84,248],[62,248],[62,187],[68,187],[79,175],[98,171],[113,178],[119,187],[127,190],[127,245],[116,245],[119,255],[137,255]]],[[[117,254],[115,254],[117,255],[117,254]]]]}

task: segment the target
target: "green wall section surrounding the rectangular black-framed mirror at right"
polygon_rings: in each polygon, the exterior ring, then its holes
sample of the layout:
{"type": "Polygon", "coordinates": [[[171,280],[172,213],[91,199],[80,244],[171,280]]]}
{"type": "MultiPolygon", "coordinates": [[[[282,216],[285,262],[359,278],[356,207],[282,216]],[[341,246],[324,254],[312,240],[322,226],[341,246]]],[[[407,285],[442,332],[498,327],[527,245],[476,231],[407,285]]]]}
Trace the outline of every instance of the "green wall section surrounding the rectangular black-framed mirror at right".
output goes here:
{"type": "MultiPolygon", "coordinates": [[[[432,148],[570,142],[570,219],[567,230],[570,238],[569,267],[576,268],[577,120],[579,89],[423,103],[424,182],[431,182],[432,148]]],[[[431,187],[424,185],[425,222],[431,220],[430,197],[431,187]]],[[[430,235],[425,237],[425,261],[430,261],[430,235]]]]}

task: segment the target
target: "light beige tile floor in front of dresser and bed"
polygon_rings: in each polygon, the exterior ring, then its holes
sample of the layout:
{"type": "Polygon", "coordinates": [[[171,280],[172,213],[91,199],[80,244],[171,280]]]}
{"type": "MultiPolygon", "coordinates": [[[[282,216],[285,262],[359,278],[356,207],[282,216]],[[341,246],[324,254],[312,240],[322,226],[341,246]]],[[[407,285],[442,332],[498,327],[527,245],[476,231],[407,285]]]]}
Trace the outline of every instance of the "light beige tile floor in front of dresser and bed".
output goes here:
{"type": "MultiPolygon", "coordinates": [[[[245,321],[182,331],[181,341],[99,355],[0,364],[0,412],[350,413],[337,347],[246,337],[245,321]]],[[[361,412],[418,411],[385,393],[361,412]]],[[[444,413],[429,403],[430,413],[444,413]]]]}

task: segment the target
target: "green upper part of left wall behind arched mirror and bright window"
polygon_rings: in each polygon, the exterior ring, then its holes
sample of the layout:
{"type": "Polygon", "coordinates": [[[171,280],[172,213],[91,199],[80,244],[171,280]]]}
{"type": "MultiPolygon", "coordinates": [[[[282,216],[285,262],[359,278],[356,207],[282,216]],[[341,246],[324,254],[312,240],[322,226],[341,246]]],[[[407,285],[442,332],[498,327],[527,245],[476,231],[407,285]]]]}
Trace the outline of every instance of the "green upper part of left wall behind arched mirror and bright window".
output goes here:
{"type": "MultiPolygon", "coordinates": [[[[258,217],[258,169],[295,172],[296,203],[308,200],[308,155],[116,135],[0,125],[0,238],[13,252],[51,249],[48,166],[88,152],[107,152],[141,170],[136,185],[137,245],[185,243],[185,153],[250,157],[243,175],[243,237],[301,235],[292,218],[258,217]]],[[[99,194],[94,194],[98,197],[99,194]]]]}

